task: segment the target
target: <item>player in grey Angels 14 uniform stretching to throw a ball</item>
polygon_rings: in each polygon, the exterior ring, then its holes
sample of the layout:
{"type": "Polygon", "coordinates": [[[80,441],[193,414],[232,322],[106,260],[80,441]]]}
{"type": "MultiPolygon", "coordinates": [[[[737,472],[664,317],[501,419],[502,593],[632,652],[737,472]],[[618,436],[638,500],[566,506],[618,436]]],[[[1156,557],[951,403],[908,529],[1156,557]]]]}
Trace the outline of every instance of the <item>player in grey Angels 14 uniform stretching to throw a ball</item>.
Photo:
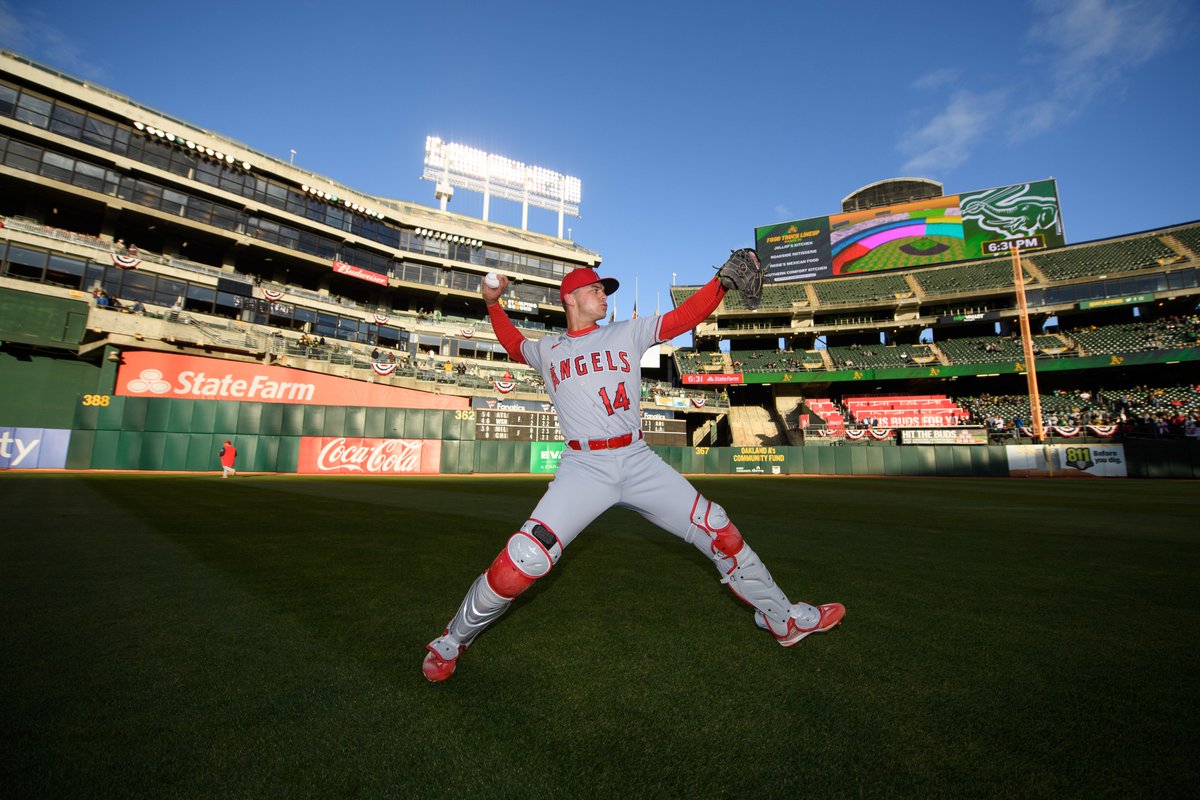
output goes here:
{"type": "Polygon", "coordinates": [[[554,480],[529,519],[512,534],[487,571],[467,591],[458,612],[426,650],[421,672],[431,681],[449,678],[458,656],[496,621],[522,591],[545,577],[587,525],[614,505],[637,511],[710,558],[733,593],[755,608],[755,622],[790,648],[810,633],[838,625],[841,603],[793,603],[775,585],[725,510],[713,503],[647,446],[641,431],[642,353],[685,333],[721,302],[726,289],[742,290],[757,306],[762,270],[754,251],[736,251],[696,294],[661,315],[599,326],[617,281],[586,267],[563,278],[559,296],[566,332],[526,339],[498,305],[508,287],[484,283],[496,336],[514,361],[528,363],[546,380],[566,440],[554,480]]]}

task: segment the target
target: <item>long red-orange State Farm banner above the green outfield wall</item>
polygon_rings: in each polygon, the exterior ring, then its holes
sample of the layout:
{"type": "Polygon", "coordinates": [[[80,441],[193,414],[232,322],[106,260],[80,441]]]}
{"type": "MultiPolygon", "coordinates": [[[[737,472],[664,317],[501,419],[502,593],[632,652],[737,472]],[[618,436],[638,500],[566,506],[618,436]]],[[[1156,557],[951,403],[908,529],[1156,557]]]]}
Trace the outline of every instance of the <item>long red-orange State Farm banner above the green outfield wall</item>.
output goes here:
{"type": "Polygon", "coordinates": [[[121,355],[116,393],[127,397],[372,408],[460,409],[468,405],[466,397],[434,395],[403,386],[383,386],[264,363],[149,350],[127,350],[121,355]]]}

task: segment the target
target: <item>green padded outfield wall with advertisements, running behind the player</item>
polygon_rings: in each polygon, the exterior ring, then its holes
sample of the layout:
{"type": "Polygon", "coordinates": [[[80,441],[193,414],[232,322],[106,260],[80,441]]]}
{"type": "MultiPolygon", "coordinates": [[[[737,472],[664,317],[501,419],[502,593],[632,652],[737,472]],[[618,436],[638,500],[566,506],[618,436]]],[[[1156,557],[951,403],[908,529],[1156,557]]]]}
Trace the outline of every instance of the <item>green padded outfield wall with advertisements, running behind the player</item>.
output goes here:
{"type": "MultiPolygon", "coordinates": [[[[118,396],[112,362],[0,354],[0,469],[216,471],[229,439],[242,471],[544,474],[563,443],[482,440],[474,409],[305,405],[118,396]]],[[[654,447],[708,475],[1129,475],[1200,477],[1200,443],[654,447]],[[1039,461],[1040,459],[1040,461],[1039,461]],[[1120,470],[1115,463],[1120,462],[1120,470]]]]}

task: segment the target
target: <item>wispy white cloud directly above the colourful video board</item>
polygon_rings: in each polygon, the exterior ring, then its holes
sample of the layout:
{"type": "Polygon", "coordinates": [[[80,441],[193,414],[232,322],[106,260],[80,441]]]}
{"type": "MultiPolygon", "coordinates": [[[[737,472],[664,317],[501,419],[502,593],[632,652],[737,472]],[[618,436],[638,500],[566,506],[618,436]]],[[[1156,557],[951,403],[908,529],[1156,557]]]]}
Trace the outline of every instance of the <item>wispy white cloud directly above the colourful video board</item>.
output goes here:
{"type": "Polygon", "coordinates": [[[1001,91],[985,95],[955,92],[941,113],[900,143],[900,152],[908,157],[901,173],[928,174],[965,162],[1002,104],[1001,91]]]}

